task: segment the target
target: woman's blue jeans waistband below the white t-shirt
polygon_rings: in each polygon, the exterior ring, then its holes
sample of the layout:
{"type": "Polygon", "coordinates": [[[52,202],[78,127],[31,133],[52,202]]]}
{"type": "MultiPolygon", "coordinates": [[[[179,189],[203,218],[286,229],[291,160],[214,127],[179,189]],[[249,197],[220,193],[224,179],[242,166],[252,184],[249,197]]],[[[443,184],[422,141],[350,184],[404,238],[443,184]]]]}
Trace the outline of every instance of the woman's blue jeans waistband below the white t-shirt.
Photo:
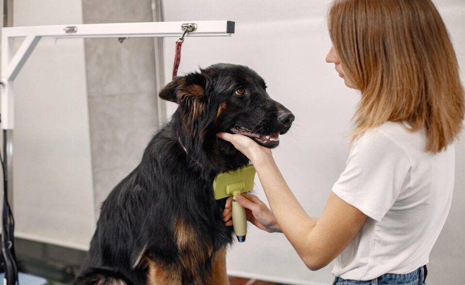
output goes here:
{"type": "Polygon", "coordinates": [[[346,280],[336,277],[332,285],[426,285],[426,275],[428,275],[428,269],[425,265],[407,274],[386,273],[368,281],[346,280]]]}

